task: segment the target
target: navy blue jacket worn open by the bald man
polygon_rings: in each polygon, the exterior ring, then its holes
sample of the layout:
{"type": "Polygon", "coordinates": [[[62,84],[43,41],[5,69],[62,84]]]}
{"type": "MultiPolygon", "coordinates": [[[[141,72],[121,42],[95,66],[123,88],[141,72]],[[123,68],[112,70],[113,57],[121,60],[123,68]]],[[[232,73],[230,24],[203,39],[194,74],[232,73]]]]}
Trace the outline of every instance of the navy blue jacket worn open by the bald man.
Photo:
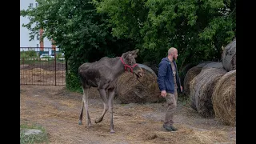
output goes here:
{"type": "MultiPolygon", "coordinates": [[[[178,86],[178,92],[181,92],[181,82],[178,76],[177,65],[175,61],[173,62],[176,70],[176,82],[178,86]]],[[[161,91],[166,90],[167,93],[174,94],[173,70],[167,57],[162,58],[161,62],[158,65],[158,86],[161,91]]]]}

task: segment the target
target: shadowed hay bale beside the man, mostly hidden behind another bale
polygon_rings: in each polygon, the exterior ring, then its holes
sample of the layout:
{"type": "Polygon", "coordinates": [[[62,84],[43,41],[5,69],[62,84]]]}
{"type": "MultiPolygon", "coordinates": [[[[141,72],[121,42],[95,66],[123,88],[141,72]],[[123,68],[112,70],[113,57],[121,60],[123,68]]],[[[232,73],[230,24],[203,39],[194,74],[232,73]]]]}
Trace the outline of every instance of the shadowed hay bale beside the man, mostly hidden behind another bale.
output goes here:
{"type": "Polygon", "coordinates": [[[188,70],[186,72],[185,78],[184,78],[184,84],[183,84],[183,92],[186,95],[190,94],[190,82],[192,81],[192,79],[197,76],[201,70],[203,66],[206,66],[207,63],[210,63],[210,61],[207,62],[201,62],[199,63],[197,66],[194,66],[192,68],[190,68],[190,70],[188,70]]]}

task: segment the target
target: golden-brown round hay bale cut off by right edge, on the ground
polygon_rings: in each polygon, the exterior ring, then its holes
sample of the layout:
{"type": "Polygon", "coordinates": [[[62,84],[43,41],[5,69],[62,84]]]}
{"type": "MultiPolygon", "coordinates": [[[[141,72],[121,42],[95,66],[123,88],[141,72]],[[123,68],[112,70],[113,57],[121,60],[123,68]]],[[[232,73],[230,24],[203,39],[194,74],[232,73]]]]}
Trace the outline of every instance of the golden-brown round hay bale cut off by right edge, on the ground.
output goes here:
{"type": "Polygon", "coordinates": [[[225,125],[236,126],[236,70],[219,79],[212,96],[215,117],[225,125]]]}

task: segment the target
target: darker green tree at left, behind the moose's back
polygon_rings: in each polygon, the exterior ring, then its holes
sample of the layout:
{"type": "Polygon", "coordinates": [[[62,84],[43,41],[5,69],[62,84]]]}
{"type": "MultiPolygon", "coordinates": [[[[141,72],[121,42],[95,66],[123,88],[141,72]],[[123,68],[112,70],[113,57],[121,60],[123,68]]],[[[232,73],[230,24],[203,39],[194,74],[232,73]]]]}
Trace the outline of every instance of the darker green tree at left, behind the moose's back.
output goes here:
{"type": "Polygon", "coordinates": [[[44,30],[43,38],[53,39],[68,62],[66,87],[80,88],[78,66],[103,56],[115,57],[132,49],[130,39],[113,38],[106,14],[98,14],[90,0],[37,0],[38,7],[21,10],[30,18],[25,26],[30,38],[44,30]]]}

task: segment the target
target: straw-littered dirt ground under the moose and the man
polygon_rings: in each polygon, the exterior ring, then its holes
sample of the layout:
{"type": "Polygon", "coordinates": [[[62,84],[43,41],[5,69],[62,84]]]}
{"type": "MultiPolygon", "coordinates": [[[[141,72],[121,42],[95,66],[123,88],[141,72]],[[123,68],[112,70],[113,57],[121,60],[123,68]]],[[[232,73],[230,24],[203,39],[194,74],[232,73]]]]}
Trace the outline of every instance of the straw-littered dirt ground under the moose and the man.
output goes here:
{"type": "Polygon", "coordinates": [[[114,100],[114,134],[110,134],[110,114],[95,124],[102,114],[103,104],[98,94],[89,99],[93,126],[78,125],[82,94],[69,92],[64,86],[24,86],[20,93],[20,122],[37,123],[49,136],[49,143],[236,143],[236,128],[223,126],[211,118],[201,118],[197,112],[178,102],[174,116],[178,131],[162,128],[164,103],[121,104],[114,100]]]}

